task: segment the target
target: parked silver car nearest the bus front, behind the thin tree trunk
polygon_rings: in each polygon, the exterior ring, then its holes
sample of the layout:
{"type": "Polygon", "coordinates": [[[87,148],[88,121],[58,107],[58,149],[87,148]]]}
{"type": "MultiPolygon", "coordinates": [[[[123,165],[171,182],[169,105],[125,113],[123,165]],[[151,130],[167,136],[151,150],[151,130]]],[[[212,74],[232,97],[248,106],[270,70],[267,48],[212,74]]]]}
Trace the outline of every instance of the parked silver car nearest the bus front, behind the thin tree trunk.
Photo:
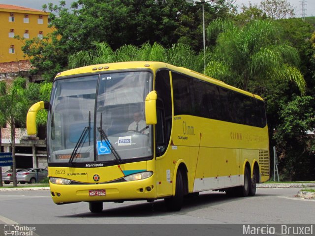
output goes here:
{"type": "Polygon", "coordinates": [[[48,171],[43,168],[26,169],[18,172],[17,181],[20,183],[37,183],[48,176],[48,171]]]}

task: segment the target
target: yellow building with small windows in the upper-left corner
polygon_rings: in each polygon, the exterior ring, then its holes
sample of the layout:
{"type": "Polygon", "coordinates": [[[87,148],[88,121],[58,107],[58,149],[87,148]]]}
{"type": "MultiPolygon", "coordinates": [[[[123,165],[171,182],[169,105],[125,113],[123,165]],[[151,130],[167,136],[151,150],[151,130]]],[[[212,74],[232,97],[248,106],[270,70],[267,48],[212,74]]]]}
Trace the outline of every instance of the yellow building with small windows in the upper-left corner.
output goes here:
{"type": "Polygon", "coordinates": [[[23,6],[0,4],[0,63],[26,60],[21,40],[14,36],[30,40],[42,38],[52,29],[48,27],[48,12],[23,6]]]}

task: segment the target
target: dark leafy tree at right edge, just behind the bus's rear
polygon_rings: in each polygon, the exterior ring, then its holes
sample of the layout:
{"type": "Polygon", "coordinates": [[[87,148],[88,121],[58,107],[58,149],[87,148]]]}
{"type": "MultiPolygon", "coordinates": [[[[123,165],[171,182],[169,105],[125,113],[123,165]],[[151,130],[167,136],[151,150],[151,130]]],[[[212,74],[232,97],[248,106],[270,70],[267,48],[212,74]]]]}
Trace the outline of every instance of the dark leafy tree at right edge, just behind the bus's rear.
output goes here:
{"type": "Polygon", "coordinates": [[[283,104],[280,123],[275,134],[284,178],[310,180],[315,178],[315,98],[294,97],[283,104]]]}

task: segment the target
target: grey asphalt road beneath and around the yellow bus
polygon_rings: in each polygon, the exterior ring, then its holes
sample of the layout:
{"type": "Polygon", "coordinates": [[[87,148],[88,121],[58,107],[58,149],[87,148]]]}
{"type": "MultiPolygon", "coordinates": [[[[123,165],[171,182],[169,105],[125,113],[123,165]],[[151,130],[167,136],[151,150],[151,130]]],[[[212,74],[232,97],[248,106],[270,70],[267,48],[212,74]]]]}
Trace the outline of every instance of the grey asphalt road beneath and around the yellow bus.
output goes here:
{"type": "Polygon", "coordinates": [[[57,206],[49,190],[0,191],[0,223],[18,224],[313,224],[315,200],[294,197],[299,188],[259,188],[255,197],[229,198],[204,192],[170,212],[163,200],[104,203],[95,214],[88,203],[57,206]]]}

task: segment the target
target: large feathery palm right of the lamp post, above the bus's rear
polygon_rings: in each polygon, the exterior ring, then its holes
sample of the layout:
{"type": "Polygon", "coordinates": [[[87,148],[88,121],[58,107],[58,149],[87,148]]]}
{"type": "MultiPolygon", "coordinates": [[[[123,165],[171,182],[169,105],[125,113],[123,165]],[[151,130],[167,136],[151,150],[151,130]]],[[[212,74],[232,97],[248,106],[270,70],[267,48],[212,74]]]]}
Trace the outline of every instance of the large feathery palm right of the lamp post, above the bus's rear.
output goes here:
{"type": "Polygon", "coordinates": [[[274,21],[258,20],[238,27],[230,20],[217,19],[209,24],[207,35],[216,44],[207,54],[205,74],[244,90],[252,81],[291,81],[305,93],[306,83],[297,68],[299,54],[282,40],[274,21]]]}

